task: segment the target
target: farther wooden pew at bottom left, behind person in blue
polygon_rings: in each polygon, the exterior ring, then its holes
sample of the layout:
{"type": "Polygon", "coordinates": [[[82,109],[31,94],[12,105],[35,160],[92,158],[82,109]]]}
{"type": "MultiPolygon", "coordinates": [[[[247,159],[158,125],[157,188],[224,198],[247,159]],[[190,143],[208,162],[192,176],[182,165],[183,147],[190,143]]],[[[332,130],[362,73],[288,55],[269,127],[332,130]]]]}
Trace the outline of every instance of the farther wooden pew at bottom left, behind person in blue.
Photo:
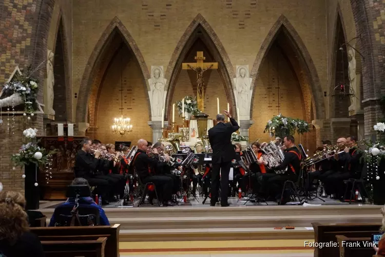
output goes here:
{"type": "Polygon", "coordinates": [[[40,241],[98,240],[99,237],[107,237],[105,255],[108,257],[119,257],[119,230],[120,224],[94,227],[31,228],[31,232],[36,234],[40,241]]]}

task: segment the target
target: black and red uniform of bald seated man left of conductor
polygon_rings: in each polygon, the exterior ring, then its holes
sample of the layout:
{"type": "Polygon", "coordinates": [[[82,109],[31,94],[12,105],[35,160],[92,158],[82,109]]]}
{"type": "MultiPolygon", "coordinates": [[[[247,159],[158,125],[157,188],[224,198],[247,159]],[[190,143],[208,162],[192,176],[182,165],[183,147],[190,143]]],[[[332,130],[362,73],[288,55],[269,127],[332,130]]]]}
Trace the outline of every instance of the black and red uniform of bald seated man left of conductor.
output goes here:
{"type": "Polygon", "coordinates": [[[154,154],[149,157],[145,151],[138,150],[132,160],[132,166],[137,172],[139,179],[143,184],[153,182],[160,192],[159,196],[164,202],[171,199],[172,188],[174,181],[170,177],[159,176],[155,174],[155,169],[158,167],[159,155],[154,154]]]}

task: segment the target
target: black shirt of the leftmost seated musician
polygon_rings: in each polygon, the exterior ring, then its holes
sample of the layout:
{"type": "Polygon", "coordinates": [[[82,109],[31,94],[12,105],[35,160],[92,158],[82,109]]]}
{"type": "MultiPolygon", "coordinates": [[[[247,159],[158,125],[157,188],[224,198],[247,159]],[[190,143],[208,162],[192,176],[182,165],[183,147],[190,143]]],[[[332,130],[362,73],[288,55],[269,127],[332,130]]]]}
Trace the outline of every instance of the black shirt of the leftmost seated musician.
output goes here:
{"type": "Polygon", "coordinates": [[[75,176],[91,177],[97,171],[99,159],[84,152],[82,149],[75,156],[75,176]]]}

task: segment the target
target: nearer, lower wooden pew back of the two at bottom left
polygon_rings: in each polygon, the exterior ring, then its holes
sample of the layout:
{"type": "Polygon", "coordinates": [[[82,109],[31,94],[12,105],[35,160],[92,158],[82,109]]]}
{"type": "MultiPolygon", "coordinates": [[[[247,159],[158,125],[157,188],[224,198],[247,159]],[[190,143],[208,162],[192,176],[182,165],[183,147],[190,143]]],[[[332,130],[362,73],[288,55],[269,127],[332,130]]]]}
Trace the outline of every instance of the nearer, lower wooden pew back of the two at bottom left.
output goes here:
{"type": "Polygon", "coordinates": [[[41,241],[46,257],[104,257],[107,237],[97,240],[41,241]]]}

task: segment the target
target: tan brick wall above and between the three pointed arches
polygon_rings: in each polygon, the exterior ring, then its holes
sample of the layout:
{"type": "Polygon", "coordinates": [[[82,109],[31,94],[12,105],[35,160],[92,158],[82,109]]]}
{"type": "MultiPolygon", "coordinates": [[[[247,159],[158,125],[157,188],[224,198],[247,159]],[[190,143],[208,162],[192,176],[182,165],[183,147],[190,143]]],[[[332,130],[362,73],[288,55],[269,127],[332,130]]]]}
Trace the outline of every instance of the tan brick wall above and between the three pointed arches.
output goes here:
{"type": "MultiPolygon", "coordinates": [[[[280,15],[284,14],[309,51],[321,86],[326,85],[326,60],[323,58],[326,54],[324,1],[312,1],[312,3],[299,1],[293,4],[282,0],[272,6],[271,2],[264,0],[258,1],[258,8],[254,8],[255,6],[248,2],[238,1],[232,1],[231,5],[226,5],[223,1],[203,0],[194,1],[194,3],[185,1],[169,3],[162,0],[148,2],[143,6],[136,3],[131,1],[123,5],[121,1],[116,1],[98,2],[98,5],[95,5],[93,1],[87,0],[73,2],[73,24],[82,24],[73,26],[74,93],[84,86],[81,85],[82,76],[92,49],[115,15],[136,41],[147,69],[150,69],[151,65],[163,65],[168,67],[165,70],[166,75],[171,75],[176,70],[174,66],[168,66],[170,58],[176,47],[178,49],[185,47],[185,45],[178,45],[178,42],[191,21],[201,13],[215,31],[217,39],[214,44],[217,47],[223,46],[219,49],[220,54],[228,56],[232,64],[232,66],[226,66],[226,69],[231,70],[229,74],[234,75],[236,65],[248,64],[250,68],[253,67],[263,40],[280,15]],[[104,11],[100,12],[100,10],[104,11]],[[84,41],[84,38],[87,38],[87,41],[84,41]]],[[[166,79],[169,81],[170,77],[166,79]]],[[[225,101],[221,99],[222,96],[220,96],[220,102],[224,102],[225,106],[225,101]]],[[[224,99],[228,101],[229,97],[226,95],[224,99]]],[[[172,98],[171,100],[174,102],[172,98]]]]}

